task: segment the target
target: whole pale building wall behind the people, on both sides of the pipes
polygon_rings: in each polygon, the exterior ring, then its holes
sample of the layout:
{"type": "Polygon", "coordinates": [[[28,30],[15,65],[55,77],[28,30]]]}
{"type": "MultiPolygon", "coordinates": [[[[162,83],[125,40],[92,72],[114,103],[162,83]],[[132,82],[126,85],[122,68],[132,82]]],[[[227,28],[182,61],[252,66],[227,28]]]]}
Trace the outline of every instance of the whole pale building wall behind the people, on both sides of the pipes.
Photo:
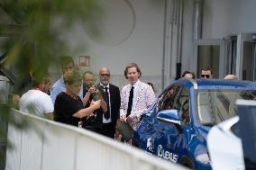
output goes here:
{"type": "MultiPolygon", "coordinates": [[[[174,1],[166,1],[168,8],[174,1]]],[[[113,75],[112,82],[121,88],[128,83],[123,77],[123,68],[129,62],[136,62],[142,68],[142,80],[151,81],[160,93],[163,42],[170,38],[169,32],[165,37],[163,34],[171,22],[172,11],[168,9],[164,25],[164,0],[108,0],[102,4],[104,21],[97,23],[101,26],[102,39],[97,39],[80,24],[64,35],[70,47],[79,47],[71,54],[77,63],[79,56],[91,57],[90,67],[80,67],[81,72],[91,70],[97,74],[100,67],[107,66],[113,75]]],[[[254,0],[205,0],[202,38],[222,39],[238,32],[256,32],[255,6],[254,0]]],[[[193,68],[193,7],[194,1],[184,0],[181,72],[193,68]]],[[[176,49],[176,35],[174,30],[172,44],[166,46],[176,49]]],[[[165,60],[169,67],[164,67],[166,85],[176,76],[176,57],[177,51],[166,53],[165,58],[169,58],[165,60]]],[[[53,74],[58,77],[60,71],[53,74]]]]}

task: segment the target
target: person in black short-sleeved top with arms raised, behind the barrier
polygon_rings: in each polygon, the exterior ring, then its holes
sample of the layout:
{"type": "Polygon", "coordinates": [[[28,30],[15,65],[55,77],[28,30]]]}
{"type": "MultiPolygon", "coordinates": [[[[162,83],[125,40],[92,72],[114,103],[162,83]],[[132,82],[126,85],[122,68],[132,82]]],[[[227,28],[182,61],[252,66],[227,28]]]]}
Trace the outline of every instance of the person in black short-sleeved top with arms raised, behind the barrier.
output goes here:
{"type": "Polygon", "coordinates": [[[54,103],[54,121],[84,128],[83,120],[101,106],[101,100],[93,101],[86,108],[78,96],[82,77],[77,70],[71,71],[64,79],[66,92],[57,95],[54,103]]]}

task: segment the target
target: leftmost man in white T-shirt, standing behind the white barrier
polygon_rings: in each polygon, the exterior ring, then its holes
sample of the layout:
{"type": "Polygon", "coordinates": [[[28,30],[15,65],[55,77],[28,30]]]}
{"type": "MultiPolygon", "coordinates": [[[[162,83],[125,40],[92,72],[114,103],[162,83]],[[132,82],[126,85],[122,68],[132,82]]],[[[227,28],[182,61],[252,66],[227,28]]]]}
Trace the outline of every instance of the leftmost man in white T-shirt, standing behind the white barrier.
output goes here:
{"type": "Polygon", "coordinates": [[[20,111],[53,120],[53,103],[50,95],[46,94],[50,85],[50,76],[33,76],[32,89],[20,99],[20,111]]]}

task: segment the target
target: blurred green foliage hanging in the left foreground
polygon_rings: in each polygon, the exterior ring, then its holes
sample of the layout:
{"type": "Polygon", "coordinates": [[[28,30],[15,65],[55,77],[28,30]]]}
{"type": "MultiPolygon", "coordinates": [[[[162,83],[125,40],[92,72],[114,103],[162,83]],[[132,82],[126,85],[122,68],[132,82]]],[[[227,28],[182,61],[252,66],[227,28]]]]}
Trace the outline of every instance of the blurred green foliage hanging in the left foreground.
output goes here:
{"type": "MultiPolygon", "coordinates": [[[[7,37],[0,47],[6,54],[0,67],[14,72],[16,92],[30,71],[45,73],[52,63],[59,67],[59,56],[70,54],[63,33],[79,22],[97,35],[96,21],[102,15],[96,0],[0,0],[0,8],[11,18],[11,23],[0,24],[0,36],[7,37]]],[[[26,123],[10,118],[11,107],[10,103],[1,105],[0,119],[22,128],[26,123]]],[[[5,130],[0,128],[1,136],[5,130]]]]}

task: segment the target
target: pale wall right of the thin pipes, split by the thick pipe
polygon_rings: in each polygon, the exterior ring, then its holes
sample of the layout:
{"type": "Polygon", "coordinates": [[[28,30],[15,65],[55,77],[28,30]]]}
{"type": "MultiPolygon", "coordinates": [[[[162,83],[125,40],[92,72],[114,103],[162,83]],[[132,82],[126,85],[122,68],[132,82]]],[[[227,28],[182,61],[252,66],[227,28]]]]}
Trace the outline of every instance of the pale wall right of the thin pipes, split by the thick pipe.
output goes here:
{"type": "MultiPolygon", "coordinates": [[[[205,0],[202,39],[256,32],[255,6],[255,0],[205,0]]],[[[193,7],[193,1],[184,0],[182,71],[193,68],[193,7]]]]}

